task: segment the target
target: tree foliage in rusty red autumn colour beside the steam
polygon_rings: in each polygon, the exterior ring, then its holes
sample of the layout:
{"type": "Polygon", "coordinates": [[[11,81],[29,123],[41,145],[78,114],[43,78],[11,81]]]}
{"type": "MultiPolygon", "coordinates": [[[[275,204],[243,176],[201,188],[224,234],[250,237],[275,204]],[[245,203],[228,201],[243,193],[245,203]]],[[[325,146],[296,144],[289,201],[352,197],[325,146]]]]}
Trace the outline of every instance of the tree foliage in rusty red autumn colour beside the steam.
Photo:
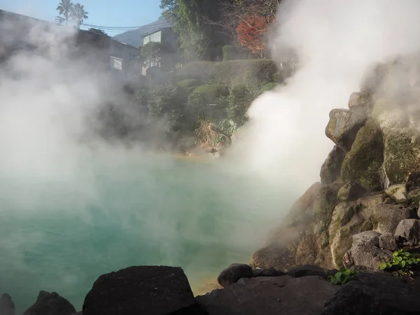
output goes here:
{"type": "Polygon", "coordinates": [[[262,55],[266,48],[264,35],[268,30],[265,17],[248,15],[237,26],[238,41],[241,45],[251,50],[255,55],[262,55]]]}

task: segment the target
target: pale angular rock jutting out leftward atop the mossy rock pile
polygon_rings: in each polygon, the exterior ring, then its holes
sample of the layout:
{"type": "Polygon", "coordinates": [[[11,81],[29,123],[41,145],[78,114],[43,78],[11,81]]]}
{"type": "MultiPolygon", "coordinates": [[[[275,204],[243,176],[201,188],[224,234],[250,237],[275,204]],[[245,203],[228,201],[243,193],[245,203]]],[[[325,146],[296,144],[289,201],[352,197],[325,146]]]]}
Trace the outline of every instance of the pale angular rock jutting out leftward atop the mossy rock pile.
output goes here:
{"type": "Polygon", "coordinates": [[[337,146],[349,152],[360,127],[365,124],[366,117],[359,111],[332,109],[330,121],[325,128],[325,134],[337,146]]]}

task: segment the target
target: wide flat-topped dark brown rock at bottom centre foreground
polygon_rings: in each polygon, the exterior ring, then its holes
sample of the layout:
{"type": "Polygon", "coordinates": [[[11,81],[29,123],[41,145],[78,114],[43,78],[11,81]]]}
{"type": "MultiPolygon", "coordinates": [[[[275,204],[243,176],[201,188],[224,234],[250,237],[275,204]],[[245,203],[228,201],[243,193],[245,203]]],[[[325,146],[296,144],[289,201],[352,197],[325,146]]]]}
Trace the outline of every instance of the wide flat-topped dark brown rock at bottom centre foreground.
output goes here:
{"type": "Polygon", "coordinates": [[[339,286],[318,276],[241,279],[197,297],[209,315],[318,315],[339,286]]]}

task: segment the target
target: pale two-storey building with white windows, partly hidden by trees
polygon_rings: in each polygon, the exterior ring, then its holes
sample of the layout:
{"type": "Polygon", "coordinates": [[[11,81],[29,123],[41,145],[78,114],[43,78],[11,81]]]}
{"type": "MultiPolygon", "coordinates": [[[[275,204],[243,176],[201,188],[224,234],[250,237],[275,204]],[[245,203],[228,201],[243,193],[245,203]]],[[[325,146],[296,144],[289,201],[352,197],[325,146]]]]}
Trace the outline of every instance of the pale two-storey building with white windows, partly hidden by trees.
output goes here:
{"type": "Polygon", "coordinates": [[[143,34],[143,46],[152,42],[164,44],[165,51],[162,51],[158,59],[146,63],[144,60],[141,71],[144,76],[147,73],[147,69],[150,67],[158,67],[164,72],[171,71],[176,64],[176,58],[178,57],[178,37],[171,27],[160,27],[143,34]]]}

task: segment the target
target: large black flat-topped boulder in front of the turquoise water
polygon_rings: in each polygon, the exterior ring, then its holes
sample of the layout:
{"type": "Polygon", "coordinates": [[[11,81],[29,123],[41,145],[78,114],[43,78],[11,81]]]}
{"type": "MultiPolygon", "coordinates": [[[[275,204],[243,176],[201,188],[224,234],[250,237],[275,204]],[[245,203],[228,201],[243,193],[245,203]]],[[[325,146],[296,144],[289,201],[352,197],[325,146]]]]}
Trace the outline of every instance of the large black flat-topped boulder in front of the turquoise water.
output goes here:
{"type": "Polygon", "coordinates": [[[204,314],[179,267],[139,266],[99,276],[83,315],[204,314]]]}

